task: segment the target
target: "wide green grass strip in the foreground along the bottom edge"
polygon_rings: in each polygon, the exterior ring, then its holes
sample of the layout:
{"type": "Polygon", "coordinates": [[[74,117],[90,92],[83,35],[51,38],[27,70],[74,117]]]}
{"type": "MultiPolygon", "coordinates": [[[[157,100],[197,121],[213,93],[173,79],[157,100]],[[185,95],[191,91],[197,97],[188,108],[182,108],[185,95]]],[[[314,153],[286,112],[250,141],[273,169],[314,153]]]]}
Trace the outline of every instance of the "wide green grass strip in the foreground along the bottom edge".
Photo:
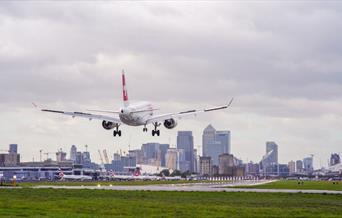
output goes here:
{"type": "Polygon", "coordinates": [[[342,196],[0,189],[0,217],[342,217],[342,196]]]}

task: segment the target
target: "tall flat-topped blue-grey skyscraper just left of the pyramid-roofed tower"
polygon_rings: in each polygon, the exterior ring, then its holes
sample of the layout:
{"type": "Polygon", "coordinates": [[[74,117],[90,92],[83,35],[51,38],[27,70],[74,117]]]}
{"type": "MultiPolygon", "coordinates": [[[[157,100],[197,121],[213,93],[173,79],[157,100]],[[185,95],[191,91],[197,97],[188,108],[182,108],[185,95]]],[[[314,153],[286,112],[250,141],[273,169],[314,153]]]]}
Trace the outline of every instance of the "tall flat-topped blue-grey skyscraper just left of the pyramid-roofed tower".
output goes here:
{"type": "Polygon", "coordinates": [[[183,149],[185,153],[186,171],[194,171],[194,138],[191,131],[178,131],[177,149],[183,149]]]}

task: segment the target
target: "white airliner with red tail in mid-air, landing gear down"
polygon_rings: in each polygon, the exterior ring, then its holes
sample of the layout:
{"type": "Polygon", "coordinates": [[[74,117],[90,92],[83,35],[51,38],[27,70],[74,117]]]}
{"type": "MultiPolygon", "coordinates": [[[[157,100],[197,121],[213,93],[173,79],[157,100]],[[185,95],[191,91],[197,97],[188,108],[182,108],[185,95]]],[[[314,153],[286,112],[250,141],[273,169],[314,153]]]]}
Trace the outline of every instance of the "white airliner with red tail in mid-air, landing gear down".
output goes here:
{"type": "MultiPolygon", "coordinates": [[[[57,113],[63,114],[67,116],[71,116],[72,118],[81,117],[89,120],[102,120],[102,127],[106,130],[112,130],[113,136],[121,136],[121,130],[119,130],[120,125],[126,124],[129,126],[144,126],[143,132],[147,132],[147,125],[152,124],[154,129],[152,130],[152,136],[160,136],[159,126],[163,123],[166,129],[173,129],[177,126],[177,120],[182,119],[187,116],[196,116],[198,113],[205,113],[211,111],[217,111],[228,108],[232,102],[233,98],[230,102],[223,106],[206,108],[206,109],[193,109],[181,111],[178,113],[167,113],[154,115],[154,111],[158,110],[153,107],[150,102],[138,102],[135,104],[131,104],[128,100],[127,93],[127,84],[125,78],[125,72],[122,70],[122,99],[123,99],[123,107],[118,111],[108,111],[108,110],[88,110],[89,112],[69,112],[69,111],[60,111],[60,110],[51,110],[51,109],[41,109],[43,112],[57,113]],[[100,114],[99,114],[100,113],[100,114]]],[[[38,108],[35,103],[32,103],[34,107],[38,108]]]]}

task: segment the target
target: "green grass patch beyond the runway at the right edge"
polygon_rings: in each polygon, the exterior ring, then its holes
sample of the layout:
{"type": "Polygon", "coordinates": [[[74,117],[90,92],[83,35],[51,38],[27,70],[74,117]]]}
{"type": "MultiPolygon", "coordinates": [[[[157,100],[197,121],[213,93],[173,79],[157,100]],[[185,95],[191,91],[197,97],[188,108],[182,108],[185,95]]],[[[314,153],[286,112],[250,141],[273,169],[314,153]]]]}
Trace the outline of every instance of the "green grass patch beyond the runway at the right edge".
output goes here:
{"type": "Polygon", "coordinates": [[[303,181],[298,184],[296,180],[281,180],[264,185],[239,186],[236,188],[262,188],[262,189],[305,189],[305,190],[335,190],[342,191],[342,182],[333,184],[332,181],[303,181]]]}

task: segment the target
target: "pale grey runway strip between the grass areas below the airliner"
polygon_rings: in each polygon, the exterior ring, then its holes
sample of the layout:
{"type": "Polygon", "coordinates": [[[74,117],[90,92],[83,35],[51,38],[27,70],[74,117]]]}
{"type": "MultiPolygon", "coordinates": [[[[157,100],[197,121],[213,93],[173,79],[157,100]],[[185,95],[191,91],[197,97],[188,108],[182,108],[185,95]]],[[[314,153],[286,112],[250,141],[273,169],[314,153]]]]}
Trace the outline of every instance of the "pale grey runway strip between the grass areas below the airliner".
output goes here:
{"type": "Polygon", "coordinates": [[[342,194],[342,191],[331,190],[294,190],[294,189],[256,189],[234,188],[236,186],[248,186],[265,184],[273,181],[241,181],[218,183],[193,183],[193,184],[163,184],[144,186],[36,186],[33,188],[53,189],[92,189],[92,190],[121,190],[121,191],[179,191],[179,192],[258,192],[258,193],[308,193],[308,194],[342,194]]]}

